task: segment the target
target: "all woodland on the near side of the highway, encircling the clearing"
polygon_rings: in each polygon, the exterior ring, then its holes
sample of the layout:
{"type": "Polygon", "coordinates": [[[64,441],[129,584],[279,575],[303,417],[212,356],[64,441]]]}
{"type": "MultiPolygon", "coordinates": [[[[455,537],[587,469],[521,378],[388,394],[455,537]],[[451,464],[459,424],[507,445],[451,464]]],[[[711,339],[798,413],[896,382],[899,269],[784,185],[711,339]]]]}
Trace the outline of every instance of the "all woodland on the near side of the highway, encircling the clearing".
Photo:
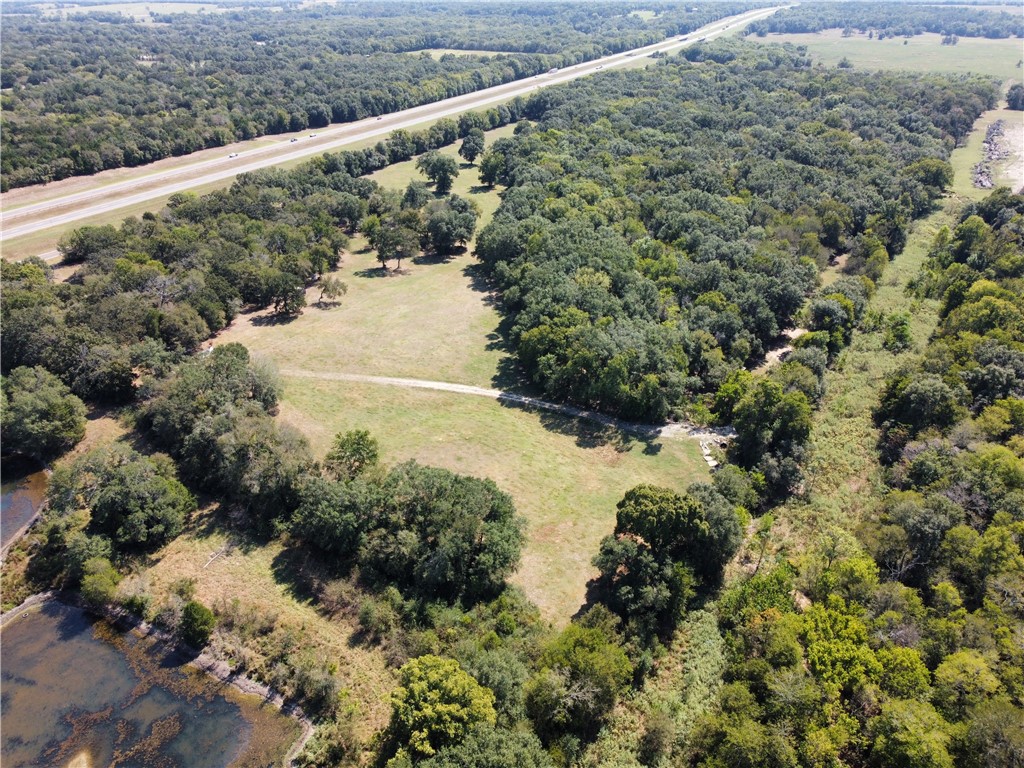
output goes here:
{"type": "Polygon", "coordinates": [[[360,753],[389,768],[1014,765],[1021,196],[966,207],[912,286],[941,300],[942,321],[881,394],[887,487],[856,530],[862,550],[825,543],[802,572],[766,556],[750,578],[724,579],[744,529],[767,541],[799,487],[827,368],[868,322],[887,348],[906,345],[906,318],[872,314],[870,297],[997,93],[977,78],[813,68],[792,47],[699,45],[79,229],[60,243],[78,265],[63,283],[38,259],[3,263],[5,440],[59,456],[82,439],[83,401],[124,404],[136,438],[56,469],[49,510],[15,554],[24,567],[5,565],[5,599],[74,588],[209,643],[315,718],[305,766],[360,753]],[[512,137],[481,143],[483,128],[513,122],[512,137]],[[362,431],[317,460],[274,418],[270,368],[238,344],[202,349],[245,308],[290,315],[308,287],[340,295],[331,271],[356,230],[382,269],[467,242],[476,212],[451,195],[457,164],[433,152],[460,137],[506,187],[477,251],[536,385],[629,418],[736,428],[711,481],[624,495],[587,604],[558,631],[506,582],[524,523],[494,482],[388,466],[362,431]],[[414,155],[432,188],[360,178],[414,155]],[[845,273],[824,287],[837,257],[845,273]],[[797,323],[808,333],[794,353],[752,374],[797,323]],[[351,621],[353,642],[395,669],[390,720],[371,743],[355,735],[337,659],[298,628],[239,601],[204,605],[184,581],[158,601],[136,575],[213,502],[216,524],[279,542],[289,587],[351,621]],[[713,672],[672,692],[703,696],[685,740],[667,697],[634,752],[589,752],[617,705],[703,643],[720,649],[724,684],[713,672]]]}

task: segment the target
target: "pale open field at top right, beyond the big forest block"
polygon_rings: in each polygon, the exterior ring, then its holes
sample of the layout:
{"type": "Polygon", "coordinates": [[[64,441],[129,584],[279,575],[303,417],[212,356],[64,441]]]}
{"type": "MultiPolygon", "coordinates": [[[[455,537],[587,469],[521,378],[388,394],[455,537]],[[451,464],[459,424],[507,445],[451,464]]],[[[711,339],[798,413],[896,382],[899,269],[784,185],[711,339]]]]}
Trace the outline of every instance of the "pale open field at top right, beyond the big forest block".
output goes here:
{"type": "Polygon", "coordinates": [[[962,37],[956,45],[942,45],[940,35],[871,40],[867,35],[843,37],[842,30],[800,35],[751,37],[770,43],[806,45],[814,58],[828,66],[849,59],[855,69],[907,72],[973,72],[1000,80],[1021,79],[1021,41],[962,37]],[[905,43],[905,44],[904,44],[905,43]]]}

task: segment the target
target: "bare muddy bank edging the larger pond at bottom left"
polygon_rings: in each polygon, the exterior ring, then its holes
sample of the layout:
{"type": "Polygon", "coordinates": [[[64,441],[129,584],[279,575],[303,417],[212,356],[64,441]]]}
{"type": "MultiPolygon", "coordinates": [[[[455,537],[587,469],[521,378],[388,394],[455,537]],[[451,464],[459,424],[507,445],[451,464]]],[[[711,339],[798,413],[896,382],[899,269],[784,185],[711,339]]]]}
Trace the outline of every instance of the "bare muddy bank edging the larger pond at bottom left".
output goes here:
{"type": "MultiPolygon", "coordinates": [[[[16,608],[11,608],[10,610],[4,611],[4,613],[0,614],[0,629],[5,627],[9,622],[16,618],[26,610],[40,605],[45,605],[48,602],[58,602],[76,608],[82,608],[88,612],[97,613],[94,608],[87,607],[77,593],[62,591],[40,592],[30,596],[16,608]]],[[[294,763],[295,759],[299,756],[299,753],[302,752],[306,742],[312,736],[312,721],[306,717],[305,713],[298,705],[287,701],[285,697],[273,688],[263,685],[262,683],[248,678],[245,675],[232,672],[226,662],[216,658],[207,652],[197,652],[195,648],[182,643],[170,633],[153,626],[148,622],[142,621],[134,613],[130,613],[123,608],[105,606],[101,611],[98,611],[98,615],[105,618],[119,630],[133,632],[139,637],[151,638],[162,645],[182,651],[188,657],[187,666],[194,667],[215,680],[231,686],[244,695],[259,696],[264,702],[271,705],[282,714],[297,721],[302,730],[298,738],[292,744],[291,749],[285,755],[285,765],[290,766],[294,763]]]]}

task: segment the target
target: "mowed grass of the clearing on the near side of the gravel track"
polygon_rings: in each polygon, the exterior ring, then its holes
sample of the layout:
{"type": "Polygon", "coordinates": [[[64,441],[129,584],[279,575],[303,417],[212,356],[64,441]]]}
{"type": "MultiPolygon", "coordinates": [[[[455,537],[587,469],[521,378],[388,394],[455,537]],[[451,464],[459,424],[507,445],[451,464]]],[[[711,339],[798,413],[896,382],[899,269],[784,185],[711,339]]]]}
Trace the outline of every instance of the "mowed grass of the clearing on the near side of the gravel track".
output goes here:
{"type": "Polygon", "coordinates": [[[416,459],[489,477],[527,520],[514,578],[546,620],[584,601],[590,564],[615,524],[615,503],[641,482],[683,490],[708,478],[694,440],[644,442],[590,422],[496,400],[396,386],[284,377],[283,421],[323,457],[337,432],[368,429],[387,464],[416,459]]]}

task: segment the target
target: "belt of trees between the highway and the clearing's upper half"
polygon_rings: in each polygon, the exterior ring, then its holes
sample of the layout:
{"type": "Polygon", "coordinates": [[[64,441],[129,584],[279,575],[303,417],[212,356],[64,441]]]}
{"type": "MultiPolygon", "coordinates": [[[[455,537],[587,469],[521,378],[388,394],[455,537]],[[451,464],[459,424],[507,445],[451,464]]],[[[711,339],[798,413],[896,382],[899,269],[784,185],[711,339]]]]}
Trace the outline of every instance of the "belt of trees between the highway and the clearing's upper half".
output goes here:
{"type": "MultiPolygon", "coordinates": [[[[432,193],[423,182],[402,195],[359,176],[417,153],[435,157],[432,151],[460,135],[475,146],[482,128],[513,121],[521,109],[515,101],[442,119],[424,131],[394,131],[374,146],[324,155],[293,171],[242,174],[231,187],[203,197],[175,195],[159,214],[126,219],[120,227],[76,229],[57,246],[67,263],[79,265],[67,283],[54,283],[37,259],[0,264],[0,372],[39,369],[59,380],[51,386],[46,378],[35,393],[28,379],[24,387],[12,380],[11,391],[26,390],[17,395],[22,403],[60,387],[86,401],[129,402],[139,372],[162,375],[242,309],[294,315],[316,283],[322,298],[340,296],[344,286],[330,272],[356,228],[382,264],[403,255],[450,256],[475,230],[479,214],[469,201],[432,193]]],[[[43,373],[35,376],[41,381],[43,373]]],[[[40,415],[56,406],[33,408],[40,415]]],[[[18,421],[35,420],[26,429],[36,436],[17,438],[24,453],[51,458],[67,442],[61,431],[75,432],[59,426],[67,421],[59,414],[30,419],[25,413],[18,421]],[[55,442],[43,437],[44,422],[55,442]]]]}

